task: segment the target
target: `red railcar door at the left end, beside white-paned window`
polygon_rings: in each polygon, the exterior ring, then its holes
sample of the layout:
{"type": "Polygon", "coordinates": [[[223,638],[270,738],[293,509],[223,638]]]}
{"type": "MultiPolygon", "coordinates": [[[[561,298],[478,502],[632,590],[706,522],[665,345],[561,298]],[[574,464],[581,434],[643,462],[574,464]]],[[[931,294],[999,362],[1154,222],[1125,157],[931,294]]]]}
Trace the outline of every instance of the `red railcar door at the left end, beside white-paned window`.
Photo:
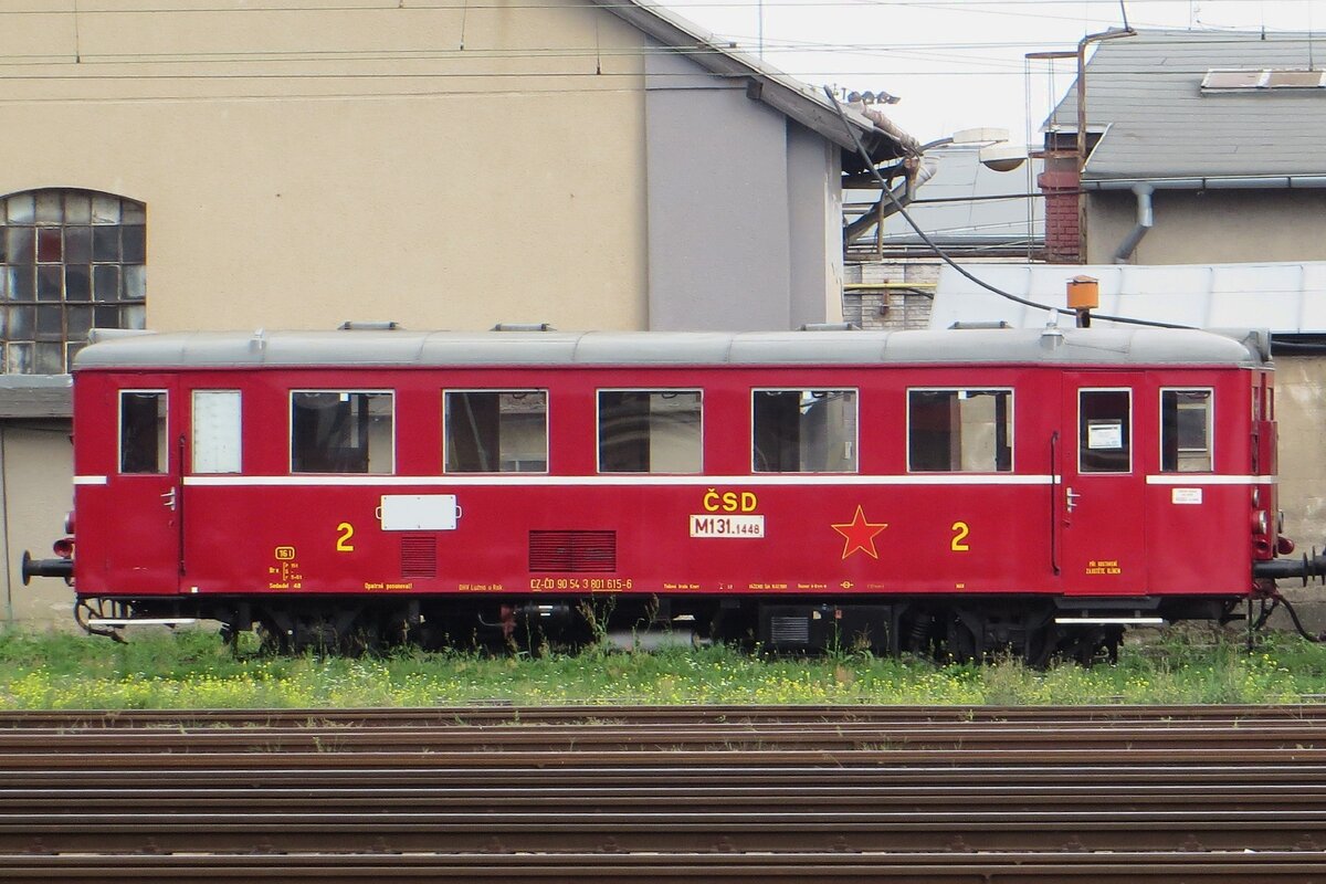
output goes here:
{"type": "Polygon", "coordinates": [[[106,550],[113,592],[179,591],[182,403],[174,378],[142,375],[115,391],[115,472],[109,477],[119,542],[106,550]]]}

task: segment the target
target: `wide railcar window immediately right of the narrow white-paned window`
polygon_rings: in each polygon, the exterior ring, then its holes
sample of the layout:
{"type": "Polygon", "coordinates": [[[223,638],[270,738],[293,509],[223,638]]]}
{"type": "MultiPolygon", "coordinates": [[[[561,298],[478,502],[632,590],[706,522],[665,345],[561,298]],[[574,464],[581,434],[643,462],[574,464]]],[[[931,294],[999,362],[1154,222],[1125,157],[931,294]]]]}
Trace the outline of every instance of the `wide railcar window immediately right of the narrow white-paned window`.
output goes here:
{"type": "Polygon", "coordinates": [[[390,392],[292,392],[290,472],[392,472],[391,417],[390,392]]]}

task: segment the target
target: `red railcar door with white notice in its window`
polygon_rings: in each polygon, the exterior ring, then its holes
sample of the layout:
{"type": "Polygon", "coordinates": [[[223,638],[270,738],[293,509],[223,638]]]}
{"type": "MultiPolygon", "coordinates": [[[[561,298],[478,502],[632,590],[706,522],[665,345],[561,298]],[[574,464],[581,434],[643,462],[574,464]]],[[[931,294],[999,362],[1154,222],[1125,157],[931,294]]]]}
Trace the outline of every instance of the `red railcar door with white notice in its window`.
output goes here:
{"type": "Polygon", "coordinates": [[[1144,489],[1136,416],[1140,374],[1066,372],[1054,485],[1065,592],[1146,591],[1144,489]]]}

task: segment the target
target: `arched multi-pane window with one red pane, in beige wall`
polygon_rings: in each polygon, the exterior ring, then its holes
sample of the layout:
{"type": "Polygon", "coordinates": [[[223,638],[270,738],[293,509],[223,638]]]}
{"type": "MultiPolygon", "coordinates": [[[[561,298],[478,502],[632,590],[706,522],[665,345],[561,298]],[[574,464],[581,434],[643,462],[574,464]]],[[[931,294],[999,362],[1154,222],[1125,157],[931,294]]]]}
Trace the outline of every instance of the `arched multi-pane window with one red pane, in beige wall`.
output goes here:
{"type": "Polygon", "coordinates": [[[89,329],[142,329],[142,203],[68,188],[0,199],[0,371],[69,371],[89,329]]]}

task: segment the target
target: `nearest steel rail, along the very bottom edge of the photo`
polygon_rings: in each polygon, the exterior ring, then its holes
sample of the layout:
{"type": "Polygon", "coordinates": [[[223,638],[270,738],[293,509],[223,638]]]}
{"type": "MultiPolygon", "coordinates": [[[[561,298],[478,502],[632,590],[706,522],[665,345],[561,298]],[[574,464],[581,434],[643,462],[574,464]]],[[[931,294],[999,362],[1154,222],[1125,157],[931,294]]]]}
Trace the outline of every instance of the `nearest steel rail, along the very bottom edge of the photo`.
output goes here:
{"type": "Polygon", "coordinates": [[[538,884],[595,881],[723,881],[764,884],[769,880],[923,881],[926,884],[1048,884],[1094,881],[1135,884],[1284,884],[1319,880],[1326,856],[1303,852],[1229,854],[1118,852],[1110,855],[961,852],[916,854],[780,854],[770,856],[670,854],[660,856],[572,854],[503,856],[272,855],[272,856],[4,856],[7,884],[105,884],[106,881],[199,880],[522,880],[538,884]]]}

